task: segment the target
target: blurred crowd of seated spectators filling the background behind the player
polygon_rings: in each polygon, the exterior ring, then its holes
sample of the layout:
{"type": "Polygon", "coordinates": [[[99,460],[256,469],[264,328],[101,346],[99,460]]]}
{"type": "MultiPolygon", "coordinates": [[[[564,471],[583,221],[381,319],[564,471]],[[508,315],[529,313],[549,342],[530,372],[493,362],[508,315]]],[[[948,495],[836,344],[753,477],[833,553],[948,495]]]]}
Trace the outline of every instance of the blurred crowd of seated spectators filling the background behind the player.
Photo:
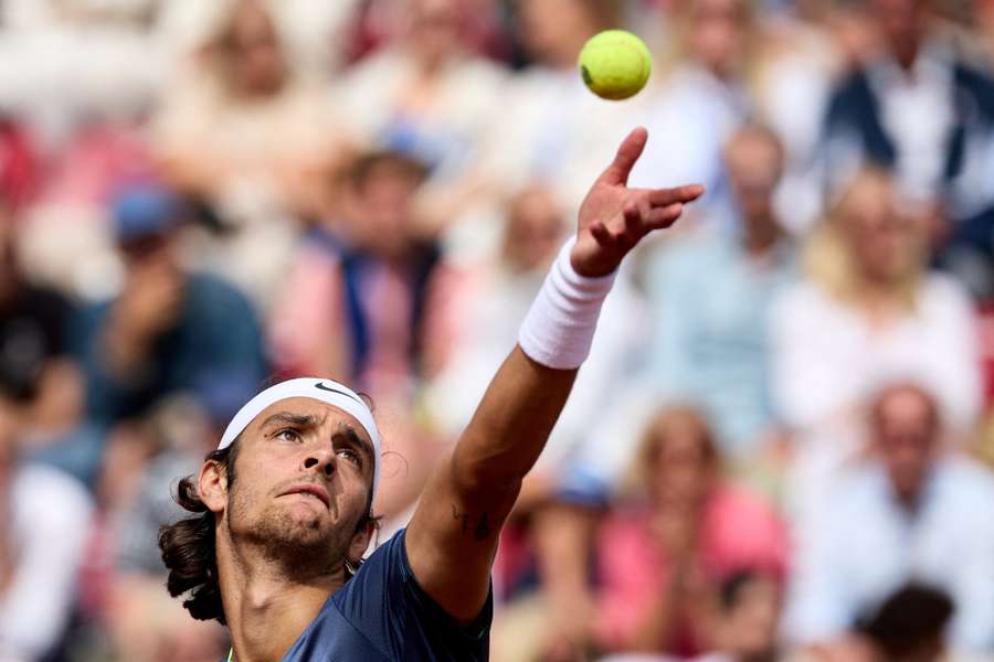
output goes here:
{"type": "Polygon", "coordinates": [[[994,2],[2,0],[0,661],[226,653],[157,532],[276,378],[372,397],[402,527],[635,126],[632,185],[708,193],[605,305],[491,658],[994,656],[994,2]]]}

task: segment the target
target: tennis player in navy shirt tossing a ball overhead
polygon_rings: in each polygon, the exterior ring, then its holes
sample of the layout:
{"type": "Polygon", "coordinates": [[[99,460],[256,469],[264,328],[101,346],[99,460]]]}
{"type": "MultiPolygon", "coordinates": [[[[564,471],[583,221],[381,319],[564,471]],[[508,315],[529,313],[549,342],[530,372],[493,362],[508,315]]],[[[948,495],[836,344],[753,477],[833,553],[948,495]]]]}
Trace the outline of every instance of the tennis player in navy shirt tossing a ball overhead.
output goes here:
{"type": "Polygon", "coordinates": [[[178,500],[195,515],[161,531],[168,589],[193,618],[228,626],[230,660],[487,659],[498,534],[590,351],[615,271],[704,192],[628,189],[646,140],[634,130],[591,188],[518,346],[411,523],[364,563],[380,436],[341,384],[298,378],[258,394],[180,483],[178,500]]]}

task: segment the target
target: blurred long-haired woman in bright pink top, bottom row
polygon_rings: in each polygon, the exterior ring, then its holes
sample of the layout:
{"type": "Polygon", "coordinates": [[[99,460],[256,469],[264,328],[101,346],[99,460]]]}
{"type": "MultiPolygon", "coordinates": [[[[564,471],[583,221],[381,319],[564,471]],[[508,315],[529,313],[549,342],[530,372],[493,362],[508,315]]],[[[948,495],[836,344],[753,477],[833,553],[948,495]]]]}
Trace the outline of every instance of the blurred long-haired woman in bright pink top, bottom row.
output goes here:
{"type": "Polygon", "coordinates": [[[701,600],[743,567],[786,572],[786,533],[763,501],[725,482],[705,419],[670,408],[652,421],[635,463],[642,500],[598,534],[596,634],[607,650],[707,650],[701,600]]]}

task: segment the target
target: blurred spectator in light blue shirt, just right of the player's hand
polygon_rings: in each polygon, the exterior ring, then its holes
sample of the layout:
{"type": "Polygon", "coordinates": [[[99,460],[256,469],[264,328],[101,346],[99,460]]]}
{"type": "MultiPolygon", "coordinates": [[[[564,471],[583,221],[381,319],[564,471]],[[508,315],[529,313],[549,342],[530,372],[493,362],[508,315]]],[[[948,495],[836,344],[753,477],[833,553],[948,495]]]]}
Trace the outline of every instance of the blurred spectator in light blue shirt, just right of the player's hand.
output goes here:
{"type": "Polygon", "coordinates": [[[794,259],[772,204],[780,141],[745,126],[732,136],[725,162],[739,216],[734,236],[705,228],[667,242],[651,258],[652,370],[666,397],[699,405],[716,421],[723,452],[748,462],[776,425],[768,316],[794,275],[794,259]]]}

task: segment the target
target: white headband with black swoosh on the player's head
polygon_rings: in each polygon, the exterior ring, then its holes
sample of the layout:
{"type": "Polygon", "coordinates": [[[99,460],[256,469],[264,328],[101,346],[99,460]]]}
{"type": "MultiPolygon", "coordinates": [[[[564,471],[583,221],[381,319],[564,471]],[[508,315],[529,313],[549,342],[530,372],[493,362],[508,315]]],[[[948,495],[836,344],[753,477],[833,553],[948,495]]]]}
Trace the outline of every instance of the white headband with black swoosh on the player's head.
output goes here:
{"type": "Polygon", "coordinates": [[[377,421],[373,420],[372,412],[369,410],[369,407],[355,391],[331,380],[302,377],[269,386],[239,409],[239,413],[228,424],[228,428],[221,437],[221,444],[218,445],[218,450],[231,446],[235,438],[266,407],[290,397],[309,397],[327,403],[338,407],[359,421],[359,425],[362,426],[373,444],[373,494],[376,494],[377,487],[380,483],[380,433],[377,429],[377,421]]]}

